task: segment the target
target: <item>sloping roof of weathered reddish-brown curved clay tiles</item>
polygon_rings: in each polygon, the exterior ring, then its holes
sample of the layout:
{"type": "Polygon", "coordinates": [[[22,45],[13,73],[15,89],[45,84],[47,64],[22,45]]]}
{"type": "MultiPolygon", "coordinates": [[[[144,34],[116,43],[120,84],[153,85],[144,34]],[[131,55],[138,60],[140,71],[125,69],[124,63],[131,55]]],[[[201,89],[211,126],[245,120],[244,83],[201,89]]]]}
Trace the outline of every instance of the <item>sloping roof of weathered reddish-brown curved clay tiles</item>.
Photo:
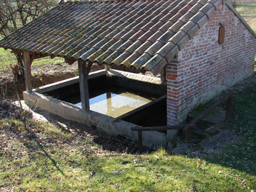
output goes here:
{"type": "Polygon", "coordinates": [[[6,36],[0,47],[71,60],[160,70],[222,0],[71,1],[6,36]]]}

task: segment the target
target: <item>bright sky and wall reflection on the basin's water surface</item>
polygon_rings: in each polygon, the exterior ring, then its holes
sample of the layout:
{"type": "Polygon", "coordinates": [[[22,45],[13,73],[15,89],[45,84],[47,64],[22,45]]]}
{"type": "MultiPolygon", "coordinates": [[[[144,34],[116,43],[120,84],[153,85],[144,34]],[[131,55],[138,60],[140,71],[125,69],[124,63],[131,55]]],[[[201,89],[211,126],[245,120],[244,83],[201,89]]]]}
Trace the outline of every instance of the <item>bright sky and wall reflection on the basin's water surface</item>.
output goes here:
{"type": "MultiPolygon", "coordinates": [[[[131,92],[122,92],[119,94],[107,92],[90,99],[90,110],[112,117],[118,117],[152,100],[154,99],[142,97],[131,92]]],[[[76,105],[81,106],[81,102],[76,105]]]]}

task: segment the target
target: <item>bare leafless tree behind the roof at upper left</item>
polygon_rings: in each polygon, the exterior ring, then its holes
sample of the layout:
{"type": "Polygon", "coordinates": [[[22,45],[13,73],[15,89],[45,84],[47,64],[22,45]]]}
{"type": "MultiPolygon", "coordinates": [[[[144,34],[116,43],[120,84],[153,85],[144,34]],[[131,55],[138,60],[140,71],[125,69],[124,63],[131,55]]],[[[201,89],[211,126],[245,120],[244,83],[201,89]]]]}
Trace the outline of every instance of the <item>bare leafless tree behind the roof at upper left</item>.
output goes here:
{"type": "MultiPolygon", "coordinates": [[[[0,0],[0,36],[25,26],[42,13],[56,6],[56,0],[0,0]]],[[[22,54],[16,54],[20,75],[24,76],[22,54]]]]}

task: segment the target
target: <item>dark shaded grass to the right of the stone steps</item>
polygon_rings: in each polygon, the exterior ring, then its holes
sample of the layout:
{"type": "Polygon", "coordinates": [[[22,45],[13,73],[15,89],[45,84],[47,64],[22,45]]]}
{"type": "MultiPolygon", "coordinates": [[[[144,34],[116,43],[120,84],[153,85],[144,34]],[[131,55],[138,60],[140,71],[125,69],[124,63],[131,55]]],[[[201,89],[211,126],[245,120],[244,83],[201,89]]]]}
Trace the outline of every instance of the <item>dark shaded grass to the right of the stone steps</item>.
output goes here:
{"type": "MultiPolygon", "coordinates": [[[[256,76],[256,74],[254,74],[256,76]]],[[[255,77],[254,77],[255,78],[255,77]]],[[[244,82],[244,86],[246,82],[244,82]]],[[[232,97],[232,118],[224,129],[243,139],[219,154],[202,157],[211,163],[256,175],[256,78],[253,84],[232,97]]]]}

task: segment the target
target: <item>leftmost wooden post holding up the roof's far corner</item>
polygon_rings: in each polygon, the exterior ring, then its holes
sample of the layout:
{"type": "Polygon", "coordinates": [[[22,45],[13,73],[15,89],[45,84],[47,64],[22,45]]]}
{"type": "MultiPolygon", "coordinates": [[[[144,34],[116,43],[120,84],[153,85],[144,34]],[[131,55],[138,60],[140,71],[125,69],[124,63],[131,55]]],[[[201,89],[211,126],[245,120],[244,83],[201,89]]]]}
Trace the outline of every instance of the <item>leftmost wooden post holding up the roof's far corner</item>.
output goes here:
{"type": "Polygon", "coordinates": [[[32,60],[30,58],[30,54],[27,51],[23,52],[23,63],[25,69],[25,84],[26,84],[26,92],[32,91],[32,81],[31,81],[31,64],[32,60]]]}

